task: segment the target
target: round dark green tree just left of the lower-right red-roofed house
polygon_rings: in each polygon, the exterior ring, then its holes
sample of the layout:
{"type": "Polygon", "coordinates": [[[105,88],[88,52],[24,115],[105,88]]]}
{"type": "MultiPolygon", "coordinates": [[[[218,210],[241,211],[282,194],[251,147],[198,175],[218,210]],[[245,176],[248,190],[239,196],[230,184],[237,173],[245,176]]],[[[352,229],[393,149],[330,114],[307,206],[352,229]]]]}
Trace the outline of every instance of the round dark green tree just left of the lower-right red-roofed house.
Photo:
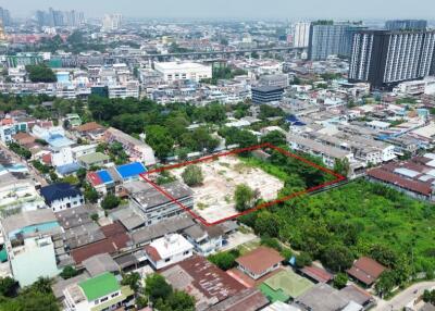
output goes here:
{"type": "Polygon", "coordinates": [[[334,272],[341,272],[352,265],[353,256],[345,246],[330,245],[326,246],[321,260],[327,269],[334,272]]]}

